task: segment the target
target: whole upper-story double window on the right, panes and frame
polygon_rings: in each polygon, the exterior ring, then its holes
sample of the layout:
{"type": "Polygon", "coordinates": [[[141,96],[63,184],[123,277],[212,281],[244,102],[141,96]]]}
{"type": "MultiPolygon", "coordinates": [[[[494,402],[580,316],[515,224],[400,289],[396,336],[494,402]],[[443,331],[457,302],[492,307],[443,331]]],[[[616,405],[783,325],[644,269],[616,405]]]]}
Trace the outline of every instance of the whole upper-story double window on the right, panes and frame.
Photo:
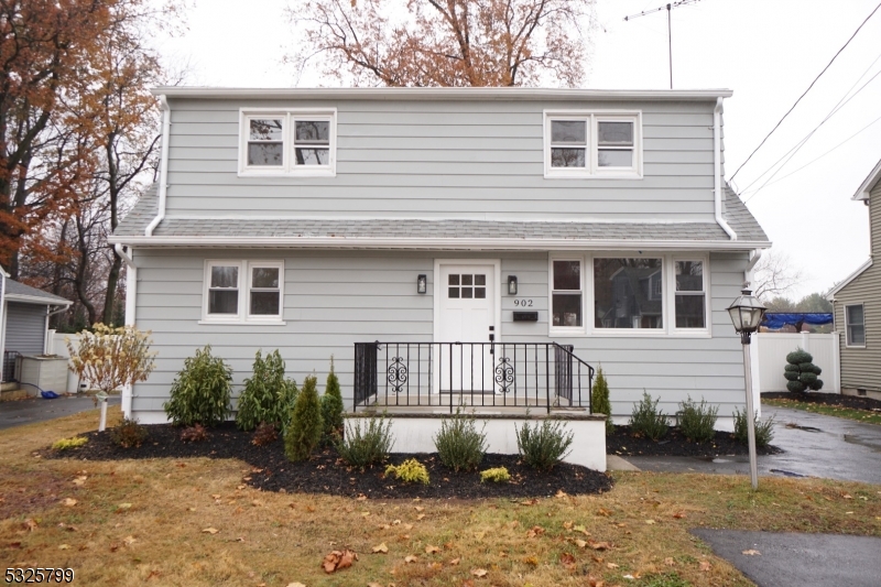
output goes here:
{"type": "Polygon", "coordinates": [[[642,177],[640,112],[545,112],[545,177],[642,177]]]}

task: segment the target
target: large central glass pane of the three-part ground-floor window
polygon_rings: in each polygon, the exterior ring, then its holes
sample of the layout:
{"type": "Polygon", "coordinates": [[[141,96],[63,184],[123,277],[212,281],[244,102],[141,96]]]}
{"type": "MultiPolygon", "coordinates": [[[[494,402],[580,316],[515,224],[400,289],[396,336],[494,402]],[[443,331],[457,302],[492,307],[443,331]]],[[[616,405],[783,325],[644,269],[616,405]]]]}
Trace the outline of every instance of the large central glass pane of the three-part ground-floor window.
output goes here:
{"type": "Polygon", "coordinates": [[[596,328],[663,328],[662,259],[594,259],[596,328]]]}

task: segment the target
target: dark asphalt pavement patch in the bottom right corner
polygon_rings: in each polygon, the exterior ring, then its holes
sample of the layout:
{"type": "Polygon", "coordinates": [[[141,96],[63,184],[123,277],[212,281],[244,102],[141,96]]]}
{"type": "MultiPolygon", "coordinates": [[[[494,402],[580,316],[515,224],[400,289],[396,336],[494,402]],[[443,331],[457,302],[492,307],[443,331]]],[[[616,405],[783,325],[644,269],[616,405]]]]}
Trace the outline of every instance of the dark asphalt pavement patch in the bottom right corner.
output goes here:
{"type": "Polygon", "coordinates": [[[759,587],[877,587],[881,580],[881,539],[877,537],[703,528],[692,534],[759,587]]]}

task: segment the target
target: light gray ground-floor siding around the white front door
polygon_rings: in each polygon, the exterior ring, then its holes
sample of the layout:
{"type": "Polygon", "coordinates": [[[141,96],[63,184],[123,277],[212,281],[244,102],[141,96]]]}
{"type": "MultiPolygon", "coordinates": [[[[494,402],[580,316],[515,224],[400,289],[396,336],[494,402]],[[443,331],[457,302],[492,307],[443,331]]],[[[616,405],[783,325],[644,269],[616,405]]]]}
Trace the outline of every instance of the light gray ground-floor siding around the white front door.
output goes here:
{"type": "MultiPolygon", "coordinates": [[[[646,252],[648,254],[648,252],[646,252]]],[[[138,315],[152,330],[159,351],[156,370],[135,385],[135,415],[161,415],[162,403],[184,359],[206,344],[235,370],[236,392],[250,374],[258,349],[281,350],[289,374],[302,382],[311,373],[324,385],[333,355],[344,395],[352,393],[356,341],[431,341],[434,336],[434,263],[437,259],[500,259],[503,287],[516,275],[520,298],[533,300],[539,323],[514,323],[513,297],[501,295],[500,341],[548,341],[575,346],[588,363],[608,374],[614,413],[627,416],[643,390],[662,396],[674,413],[688,395],[719,404],[730,415],[743,402],[743,363],[739,338],[726,307],[743,281],[746,253],[710,256],[711,337],[579,336],[547,334],[548,254],[503,252],[460,254],[431,251],[135,250],[138,315]],[[285,325],[205,325],[202,319],[206,259],[284,259],[285,325]],[[428,275],[428,293],[416,293],[416,276],[428,275]]],[[[504,292],[504,290],[501,290],[504,292]]]]}

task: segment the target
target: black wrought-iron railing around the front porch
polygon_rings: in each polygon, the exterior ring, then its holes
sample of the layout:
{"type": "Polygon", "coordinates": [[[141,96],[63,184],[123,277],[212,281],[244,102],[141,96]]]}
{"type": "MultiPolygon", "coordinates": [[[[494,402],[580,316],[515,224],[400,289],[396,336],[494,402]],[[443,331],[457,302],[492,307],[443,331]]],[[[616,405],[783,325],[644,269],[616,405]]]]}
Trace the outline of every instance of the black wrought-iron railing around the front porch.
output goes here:
{"type": "Polygon", "coordinates": [[[581,407],[594,368],[556,343],[356,343],[358,407],[581,407]]]}

